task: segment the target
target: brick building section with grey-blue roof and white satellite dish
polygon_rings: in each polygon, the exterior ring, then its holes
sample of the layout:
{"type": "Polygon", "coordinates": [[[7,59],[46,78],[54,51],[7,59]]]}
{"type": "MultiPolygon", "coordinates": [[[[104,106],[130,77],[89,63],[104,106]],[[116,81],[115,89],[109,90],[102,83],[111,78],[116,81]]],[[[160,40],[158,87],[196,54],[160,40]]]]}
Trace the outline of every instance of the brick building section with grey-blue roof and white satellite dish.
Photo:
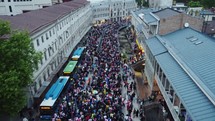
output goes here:
{"type": "Polygon", "coordinates": [[[203,19],[189,16],[185,13],[166,8],[153,12],[159,19],[159,31],[157,34],[164,35],[184,28],[185,23],[191,28],[201,31],[203,19]]]}

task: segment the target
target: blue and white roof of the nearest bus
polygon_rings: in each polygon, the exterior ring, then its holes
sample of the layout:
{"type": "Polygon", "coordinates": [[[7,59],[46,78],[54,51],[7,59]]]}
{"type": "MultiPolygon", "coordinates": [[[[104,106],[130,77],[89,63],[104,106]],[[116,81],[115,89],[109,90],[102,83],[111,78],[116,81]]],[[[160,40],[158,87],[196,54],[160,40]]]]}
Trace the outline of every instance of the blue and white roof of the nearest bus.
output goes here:
{"type": "Polygon", "coordinates": [[[53,106],[68,80],[69,76],[60,76],[46,93],[40,106],[53,106]]]}

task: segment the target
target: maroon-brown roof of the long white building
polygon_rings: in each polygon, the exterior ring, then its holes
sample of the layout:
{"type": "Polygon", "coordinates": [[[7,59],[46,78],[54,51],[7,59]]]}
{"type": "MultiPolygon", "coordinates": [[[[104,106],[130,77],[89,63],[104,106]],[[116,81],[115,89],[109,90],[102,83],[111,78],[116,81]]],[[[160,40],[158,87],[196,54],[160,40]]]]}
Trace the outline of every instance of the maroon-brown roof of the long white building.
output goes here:
{"type": "Polygon", "coordinates": [[[33,34],[87,3],[86,0],[73,0],[15,16],[0,16],[0,19],[11,22],[13,29],[27,30],[33,34]]]}

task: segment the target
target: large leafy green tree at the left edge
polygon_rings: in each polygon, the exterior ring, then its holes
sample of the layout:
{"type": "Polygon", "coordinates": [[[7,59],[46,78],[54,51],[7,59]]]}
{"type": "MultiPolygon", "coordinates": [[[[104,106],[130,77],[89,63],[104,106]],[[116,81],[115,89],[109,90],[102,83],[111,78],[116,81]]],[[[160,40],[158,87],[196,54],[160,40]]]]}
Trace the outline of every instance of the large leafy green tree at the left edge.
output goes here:
{"type": "Polygon", "coordinates": [[[26,31],[13,31],[0,20],[0,113],[17,114],[27,104],[26,88],[33,82],[33,71],[41,53],[33,48],[26,31]]]}

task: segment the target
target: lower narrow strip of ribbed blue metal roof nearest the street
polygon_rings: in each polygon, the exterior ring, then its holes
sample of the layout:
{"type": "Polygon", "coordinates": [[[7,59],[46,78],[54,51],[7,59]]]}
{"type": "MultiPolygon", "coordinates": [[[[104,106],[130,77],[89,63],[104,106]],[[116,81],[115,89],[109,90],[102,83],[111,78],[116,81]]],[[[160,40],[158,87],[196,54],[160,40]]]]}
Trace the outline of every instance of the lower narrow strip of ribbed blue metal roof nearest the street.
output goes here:
{"type": "Polygon", "coordinates": [[[215,106],[169,53],[155,56],[193,121],[214,121],[215,106]]]}

